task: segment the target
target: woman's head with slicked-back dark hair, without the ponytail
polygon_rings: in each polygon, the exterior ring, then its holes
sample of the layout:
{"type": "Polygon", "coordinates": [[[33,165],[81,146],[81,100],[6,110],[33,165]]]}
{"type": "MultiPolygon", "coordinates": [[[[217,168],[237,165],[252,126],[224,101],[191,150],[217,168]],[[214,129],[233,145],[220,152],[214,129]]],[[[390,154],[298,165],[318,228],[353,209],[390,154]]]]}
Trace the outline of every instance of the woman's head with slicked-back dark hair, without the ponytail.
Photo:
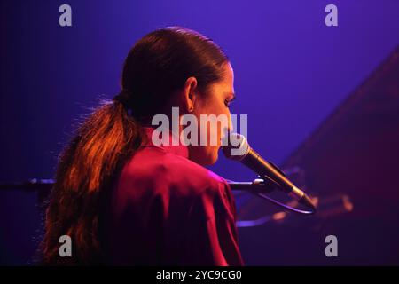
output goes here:
{"type": "MultiPolygon", "coordinates": [[[[160,28],[141,38],[129,51],[121,76],[121,87],[129,94],[128,105],[139,122],[150,124],[155,114],[191,112],[200,123],[200,114],[226,115],[234,97],[233,71],[227,56],[211,39],[186,28],[160,28]]],[[[190,158],[200,164],[217,159],[222,128],[202,128],[205,146],[189,146],[190,158]],[[217,145],[210,137],[217,138],[217,145]]],[[[200,141],[199,141],[200,144],[200,141]]]]}

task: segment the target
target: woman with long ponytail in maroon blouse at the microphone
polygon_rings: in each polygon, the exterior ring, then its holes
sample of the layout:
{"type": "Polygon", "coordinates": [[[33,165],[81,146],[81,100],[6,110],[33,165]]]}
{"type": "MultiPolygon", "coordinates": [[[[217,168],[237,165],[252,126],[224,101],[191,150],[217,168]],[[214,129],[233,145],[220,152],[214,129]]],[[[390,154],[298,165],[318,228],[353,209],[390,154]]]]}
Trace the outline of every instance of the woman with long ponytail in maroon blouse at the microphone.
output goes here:
{"type": "Polygon", "coordinates": [[[200,114],[223,114],[231,127],[226,55],[197,32],[161,28],[129,51],[121,90],[82,123],[60,157],[43,263],[243,264],[231,189],[203,167],[216,162],[225,130],[201,127],[200,114]],[[174,106],[198,118],[199,137],[218,143],[154,144],[153,116],[171,117],[174,106]],[[71,257],[59,256],[62,235],[71,237],[71,257]]]}

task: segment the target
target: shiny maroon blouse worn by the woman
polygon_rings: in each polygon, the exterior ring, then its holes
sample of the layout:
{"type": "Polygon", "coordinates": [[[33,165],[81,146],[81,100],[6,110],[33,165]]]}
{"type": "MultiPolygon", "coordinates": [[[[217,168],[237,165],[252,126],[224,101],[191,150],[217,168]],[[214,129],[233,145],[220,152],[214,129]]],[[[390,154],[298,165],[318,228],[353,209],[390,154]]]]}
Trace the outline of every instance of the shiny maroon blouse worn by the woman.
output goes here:
{"type": "MultiPolygon", "coordinates": [[[[124,166],[106,213],[110,264],[243,265],[231,188],[188,159],[186,146],[148,142],[124,166]]],[[[170,138],[170,136],[169,136],[170,138]]]]}

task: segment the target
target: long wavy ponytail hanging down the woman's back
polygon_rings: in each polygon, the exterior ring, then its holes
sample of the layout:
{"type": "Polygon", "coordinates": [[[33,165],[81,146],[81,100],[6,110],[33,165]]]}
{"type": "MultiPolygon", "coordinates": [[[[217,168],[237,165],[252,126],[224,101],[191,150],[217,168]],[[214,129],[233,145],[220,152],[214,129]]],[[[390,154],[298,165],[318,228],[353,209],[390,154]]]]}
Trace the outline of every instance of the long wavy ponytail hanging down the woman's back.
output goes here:
{"type": "Polygon", "coordinates": [[[113,180],[141,145],[140,124],[119,101],[105,101],[82,123],[59,157],[46,210],[43,264],[100,264],[99,214],[113,180]],[[59,237],[74,256],[59,256],[59,237]]]}

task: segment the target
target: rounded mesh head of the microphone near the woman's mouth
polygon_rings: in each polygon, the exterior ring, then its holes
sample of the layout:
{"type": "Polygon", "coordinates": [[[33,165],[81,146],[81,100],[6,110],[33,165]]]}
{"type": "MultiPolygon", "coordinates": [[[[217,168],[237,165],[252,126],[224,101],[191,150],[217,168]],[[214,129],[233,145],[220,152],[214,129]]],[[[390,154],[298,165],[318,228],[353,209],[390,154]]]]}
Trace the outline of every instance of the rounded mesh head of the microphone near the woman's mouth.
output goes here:
{"type": "Polygon", "coordinates": [[[223,142],[223,154],[228,159],[240,161],[249,152],[248,141],[239,133],[231,133],[223,142]]]}

